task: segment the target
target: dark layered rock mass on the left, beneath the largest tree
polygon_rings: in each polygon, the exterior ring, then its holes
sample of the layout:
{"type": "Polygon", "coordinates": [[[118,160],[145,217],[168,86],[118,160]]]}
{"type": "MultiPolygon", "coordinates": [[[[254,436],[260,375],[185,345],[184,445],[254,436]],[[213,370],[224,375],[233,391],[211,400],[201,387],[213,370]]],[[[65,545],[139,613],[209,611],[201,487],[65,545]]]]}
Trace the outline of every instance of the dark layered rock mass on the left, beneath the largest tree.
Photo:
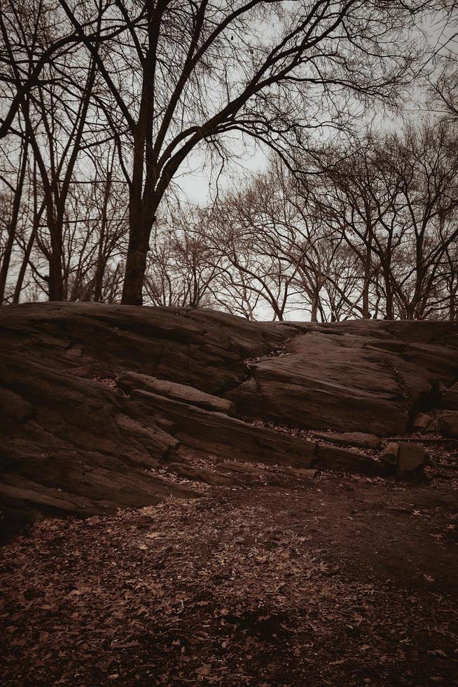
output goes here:
{"type": "Polygon", "coordinates": [[[288,334],[211,311],[1,308],[1,512],[94,515],[198,496],[155,472],[179,447],[173,422],[155,423],[116,387],[116,376],[126,371],[130,388],[146,384],[230,411],[228,400],[211,394],[243,381],[244,359],[268,353],[288,334]]]}

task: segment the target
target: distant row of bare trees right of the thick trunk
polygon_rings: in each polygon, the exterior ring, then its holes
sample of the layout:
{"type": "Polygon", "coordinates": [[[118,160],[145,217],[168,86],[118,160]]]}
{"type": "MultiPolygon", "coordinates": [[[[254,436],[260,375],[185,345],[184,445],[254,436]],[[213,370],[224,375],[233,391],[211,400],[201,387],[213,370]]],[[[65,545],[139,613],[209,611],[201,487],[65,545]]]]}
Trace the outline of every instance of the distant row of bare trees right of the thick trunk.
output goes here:
{"type": "Polygon", "coordinates": [[[175,213],[153,241],[154,304],[247,318],[458,319],[458,131],[407,125],[309,151],[175,213]]]}

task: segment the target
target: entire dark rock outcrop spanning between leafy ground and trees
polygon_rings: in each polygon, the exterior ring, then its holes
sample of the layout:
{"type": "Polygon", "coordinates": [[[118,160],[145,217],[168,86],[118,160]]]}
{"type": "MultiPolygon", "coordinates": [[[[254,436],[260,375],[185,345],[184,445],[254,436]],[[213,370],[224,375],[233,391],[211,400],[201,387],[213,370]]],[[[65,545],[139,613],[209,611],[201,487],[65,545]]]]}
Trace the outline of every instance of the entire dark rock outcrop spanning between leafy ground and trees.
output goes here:
{"type": "Polygon", "coordinates": [[[308,468],[314,442],[263,424],[399,434],[458,379],[458,327],[445,322],[250,323],[55,303],[1,308],[0,337],[7,515],[197,496],[155,473],[182,461],[181,446],[308,468]]]}

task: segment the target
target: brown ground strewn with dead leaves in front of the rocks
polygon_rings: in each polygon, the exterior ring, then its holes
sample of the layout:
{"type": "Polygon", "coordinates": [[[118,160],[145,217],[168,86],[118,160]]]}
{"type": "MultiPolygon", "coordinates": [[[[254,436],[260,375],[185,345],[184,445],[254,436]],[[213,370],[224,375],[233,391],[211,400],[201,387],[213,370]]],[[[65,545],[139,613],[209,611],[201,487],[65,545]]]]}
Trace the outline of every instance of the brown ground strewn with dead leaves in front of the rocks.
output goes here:
{"type": "Polygon", "coordinates": [[[36,524],[0,552],[1,683],[458,683],[454,474],[36,524]]]}

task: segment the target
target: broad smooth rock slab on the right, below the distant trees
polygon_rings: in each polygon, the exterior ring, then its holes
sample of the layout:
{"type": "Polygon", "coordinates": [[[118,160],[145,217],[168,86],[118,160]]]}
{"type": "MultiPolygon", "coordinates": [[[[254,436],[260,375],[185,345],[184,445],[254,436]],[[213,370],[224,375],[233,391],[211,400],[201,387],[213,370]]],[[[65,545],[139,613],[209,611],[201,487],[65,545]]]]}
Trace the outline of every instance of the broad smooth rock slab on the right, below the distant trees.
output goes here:
{"type": "MultiPolygon", "coordinates": [[[[295,325],[291,325],[293,328],[295,325]]],[[[401,434],[458,374],[458,327],[340,322],[295,327],[288,355],[250,367],[225,393],[240,413],[303,429],[401,434]]]]}

